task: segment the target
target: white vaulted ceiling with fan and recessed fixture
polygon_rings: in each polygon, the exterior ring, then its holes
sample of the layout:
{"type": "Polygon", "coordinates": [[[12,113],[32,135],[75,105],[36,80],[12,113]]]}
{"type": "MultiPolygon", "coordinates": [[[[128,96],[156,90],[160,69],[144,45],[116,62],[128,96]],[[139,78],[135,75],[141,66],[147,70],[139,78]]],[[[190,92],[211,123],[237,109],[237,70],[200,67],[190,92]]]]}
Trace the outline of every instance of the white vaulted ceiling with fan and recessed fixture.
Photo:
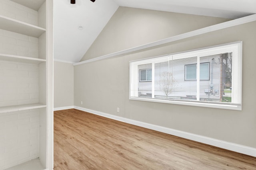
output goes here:
{"type": "Polygon", "coordinates": [[[256,14],[256,0],[54,0],[54,59],[79,62],[119,6],[230,19],[256,14]]]}

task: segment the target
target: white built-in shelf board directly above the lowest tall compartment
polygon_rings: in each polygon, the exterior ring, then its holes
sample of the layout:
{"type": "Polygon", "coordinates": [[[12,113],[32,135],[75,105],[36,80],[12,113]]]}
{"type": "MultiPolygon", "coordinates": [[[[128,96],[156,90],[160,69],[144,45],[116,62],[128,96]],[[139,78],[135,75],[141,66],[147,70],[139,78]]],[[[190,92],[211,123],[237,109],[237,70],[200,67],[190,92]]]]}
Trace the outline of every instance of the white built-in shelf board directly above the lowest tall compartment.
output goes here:
{"type": "Polygon", "coordinates": [[[38,109],[46,107],[44,104],[34,103],[34,104],[23,104],[23,105],[15,105],[15,106],[3,106],[0,107],[0,113],[8,113],[13,111],[21,111],[21,110],[29,110],[29,109],[38,109]]]}

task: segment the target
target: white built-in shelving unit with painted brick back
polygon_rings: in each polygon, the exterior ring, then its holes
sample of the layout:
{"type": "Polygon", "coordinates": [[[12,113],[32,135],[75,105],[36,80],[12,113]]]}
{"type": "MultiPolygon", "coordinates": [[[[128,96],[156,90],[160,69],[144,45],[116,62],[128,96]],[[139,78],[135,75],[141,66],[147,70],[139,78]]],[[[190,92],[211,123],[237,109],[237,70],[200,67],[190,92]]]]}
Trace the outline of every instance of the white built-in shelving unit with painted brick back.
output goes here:
{"type": "Polygon", "coordinates": [[[53,0],[0,5],[0,170],[52,170],[53,0]]]}

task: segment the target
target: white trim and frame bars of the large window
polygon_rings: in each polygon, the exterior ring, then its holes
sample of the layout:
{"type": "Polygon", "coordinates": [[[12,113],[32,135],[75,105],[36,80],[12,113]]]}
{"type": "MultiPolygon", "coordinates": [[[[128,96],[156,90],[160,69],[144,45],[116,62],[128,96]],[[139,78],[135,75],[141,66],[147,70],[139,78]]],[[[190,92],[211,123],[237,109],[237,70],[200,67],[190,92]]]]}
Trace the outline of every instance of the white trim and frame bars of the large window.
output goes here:
{"type": "MultiPolygon", "coordinates": [[[[220,49],[217,51],[217,53],[225,53],[226,50],[225,49],[220,49]]],[[[137,68],[138,70],[138,68],[137,68]]],[[[154,82],[154,77],[152,77],[152,82],[154,82]]],[[[199,87],[198,87],[199,88],[199,87]]],[[[198,89],[199,91],[199,89],[198,89]]],[[[199,96],[199,95],[197,95],[199,96]]],[[[146,102],[157,102],[157,103],[167,103],[167,104],[179,104],[179,105],[187,105],[187,106],[200,106],[200,107],[211,107],[211,108],[219,108],[219,109],[232,109],[232,110],[242,110],[242,41],[238,41],[238,42],[233,42],[233,43],[226,43],[226,44],[222,44],[222,45],[216,45],[216,46],[211,46],[211,47],[206,47],[206,48],[202,48],[202,49],[195,49],[193,51],[185,51],[185,52],[181,52],[181,53],[175,53],[175,54],[170,54],[170,55],[164,55],[164,56],[159,56],[159,57],[152,57],[149,59],[144,59],[144,60],[138,60],[138,61],[130,61],[130,90],[129,90],[129,99],[130,100],[139,100],[139,101],[146,101],[146,102]],[[197,56],[198,57],[198,61],[197,64],[199,65],[199,68],[197,68],[198,71],[198,78],[197,81],[200,81],[200,57],[204,57],[205,55],[202,55],[203,51],[205,51],[206,49],[212,49],[214,50],[215,47],[220,47],[220,46],[225,46],[225,45],[235,45],[238,44],[240,45],[240,51],[237,51],[237,54],[239,57],[233,57],[233,61],[232,61],[232,65],[234,66],[235,64],[237,65],[238,63],[240,63],[240,70],[233,70],[232,71],[232,84],[235,84],[235,82],[238,82],[239,84],[239,88],[238,87],[233,87],[236,88],[235,90],[232,90],[232,100],[236,100],[235,103],[238,104],[230,104],[230,103],[217,103],[217,102],[201,102],[198,100],[196,101],[180,101],[180,100],[161,100],[161,99],[156,99],[153,97],[154,94],[154,90],[152,88],[152,98],[139,98],[139,97],[132,97],[132,96],[138,96],[138,90],[133,90],[132,89],[138,89],[138,81],[134,81],[134,80],[138,80],[137,79],[132,78],[132,75],[136,75],[134,74],[135,69],[134,64],[132,63],[136,63],[135,66],[138,66],[138,64],[147,64],[147,63],[152,63],[152,76],[153,76],[153,65],[154,63],[159,63],[159,62],[164,62],[164,61],[168,61],[168,59],[166,59],[166,56],[172,57],[175,55],[176,58],[178,59],[182,59],[186,56],[197,56]],[[201,55],[200,55],[201,53],[201,55]],[[238,75],[240,76],[240,81],[238,81],[238,75]],[[237,91],[236,94],[234,94],[233,92],[237,91]],[[234,97],[236,96],[236,97],[234,97]],[[237,97],[238,96],[238,97],[237,97]]]]}

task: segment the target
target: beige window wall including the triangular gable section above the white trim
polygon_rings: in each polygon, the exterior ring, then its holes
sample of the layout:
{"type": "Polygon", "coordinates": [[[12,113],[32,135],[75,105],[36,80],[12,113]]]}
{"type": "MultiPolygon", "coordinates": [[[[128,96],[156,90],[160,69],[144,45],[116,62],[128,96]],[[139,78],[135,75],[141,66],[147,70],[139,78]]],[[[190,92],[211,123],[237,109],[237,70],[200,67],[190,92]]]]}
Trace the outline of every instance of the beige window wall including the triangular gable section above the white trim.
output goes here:
{"type": "MultiPolygon", "coordinates": [[[[220,18],[119,8],[83,60],[223,21],[220,18]],[[132,22],[132,18],[140,18],[146,25],[140,21],[132,22]],[[147,24],[153,27],[150,31],[146,29],[147,24]],[[157,24],[161,24],[159,28],[157,24]]],[[[77,65],[74,67],[74,105],[256,148],[255,27],[256,22],[246,23],[121,57],[77,65]],[[129,61],[234,41],[243,41],[242,111],[129,100],[129,61]],[[119,113],[116,107],[120,107],[119,113]]]]}

